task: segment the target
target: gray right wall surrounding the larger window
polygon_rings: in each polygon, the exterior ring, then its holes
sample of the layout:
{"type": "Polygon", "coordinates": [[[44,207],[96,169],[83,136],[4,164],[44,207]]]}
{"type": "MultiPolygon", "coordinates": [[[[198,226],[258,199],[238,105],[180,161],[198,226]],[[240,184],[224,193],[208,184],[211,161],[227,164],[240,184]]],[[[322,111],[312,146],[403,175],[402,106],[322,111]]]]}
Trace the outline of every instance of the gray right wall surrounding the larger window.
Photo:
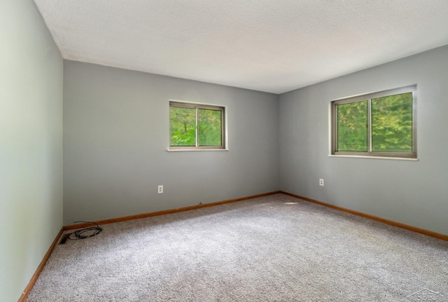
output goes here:
{"type": "Polygon", "coordinates": [[[280,95],[281,190],[448,234],[447,83],[444,46],[280,95]],[[418,161],[328,156],[332,99],[411,84],[418,161]]]}

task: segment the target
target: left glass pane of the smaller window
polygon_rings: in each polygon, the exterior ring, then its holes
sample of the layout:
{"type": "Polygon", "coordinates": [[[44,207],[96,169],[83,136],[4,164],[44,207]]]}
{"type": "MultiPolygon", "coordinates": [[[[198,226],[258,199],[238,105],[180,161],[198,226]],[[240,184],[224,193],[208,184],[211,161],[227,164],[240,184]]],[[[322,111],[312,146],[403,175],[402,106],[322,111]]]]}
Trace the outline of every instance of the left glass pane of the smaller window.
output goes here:
{"type": "Polygon", "coordinates": [[[196,109],[170,107],[171,146],[196,146],[196,109]]]}

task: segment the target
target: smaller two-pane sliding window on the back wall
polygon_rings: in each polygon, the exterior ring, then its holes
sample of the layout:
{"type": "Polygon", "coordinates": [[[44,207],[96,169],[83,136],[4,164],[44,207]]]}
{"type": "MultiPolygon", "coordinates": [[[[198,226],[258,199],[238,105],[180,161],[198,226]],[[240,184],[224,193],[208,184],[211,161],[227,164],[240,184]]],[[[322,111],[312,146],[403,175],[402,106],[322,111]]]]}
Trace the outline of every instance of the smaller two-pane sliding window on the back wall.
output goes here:
{"type": "Polygon", "coordinates": [[[169,149],[225,149],[225,107],[169,102],[169,149]]]}

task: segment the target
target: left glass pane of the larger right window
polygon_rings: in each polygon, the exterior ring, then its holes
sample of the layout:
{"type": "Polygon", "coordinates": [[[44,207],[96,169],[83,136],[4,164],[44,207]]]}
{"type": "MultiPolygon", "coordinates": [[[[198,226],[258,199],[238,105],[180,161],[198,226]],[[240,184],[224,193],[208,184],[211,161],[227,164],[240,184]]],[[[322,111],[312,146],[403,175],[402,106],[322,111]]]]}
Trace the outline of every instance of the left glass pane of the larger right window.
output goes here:
{"type": "Polygon", "coordinates": [[[337,105],[337,151],[367,151],[367,100],[337,105]]]}

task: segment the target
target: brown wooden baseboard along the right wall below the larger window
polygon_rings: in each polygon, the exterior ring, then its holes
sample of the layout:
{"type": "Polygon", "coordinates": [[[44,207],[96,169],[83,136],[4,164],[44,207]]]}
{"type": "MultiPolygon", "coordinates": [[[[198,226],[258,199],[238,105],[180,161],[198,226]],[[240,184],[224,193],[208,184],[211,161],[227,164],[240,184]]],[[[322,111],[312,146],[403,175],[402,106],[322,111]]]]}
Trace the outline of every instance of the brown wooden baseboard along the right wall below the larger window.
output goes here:
{"type": "Polygon", "coordinates": [[[433,237],[433,238],[437,238],[437,239],[440,239],[440,240],[448,241],[448,235],[444,235],[444,234],[441,234],[441,233],[436,233],[436,232],[433,232],[433,231],[428,231],[428,230],[425,230],[423,228],[417,228],[416,226],[409,226],[408,224],[402,224],[400,222],[384,219],[384,218],[373,216],[373,215],[370,215],[370,214],[365,214],[363,212],[353,211],[353,210],[350,210],[350,209],[346,209],[345,207],[338,207],[337,205],[331,205],[329,203],[323,203],[323,202],[321,202],[319,200],[307,198],[307,197],[300,196],[300,195],[295,195],[293,193],[288,193],[288,192],[284,192],[284,191],[280,191],[280,193],[285,194],[285,195],[290,195],[292,197],[299,198],[299,199],[302,199],[302,200],[307,200],[307,201],[309,201],[311,203],[316,203],[318,205],[323,205],[325,207],[331,207],[332,209],[339,210],[339,211],[342,211],[342,212],[347,212],[347,213],[358,215],[360,217],[364,217],[364,218],[367,218],[367,219],[372,219],[374,221],[379,221],[379,222],[382,222],[383,224],[396,226],[398,228],[404,228],[404,229],[406,229],[408,231],[413,231],[413,232],[421,233],[423,235],[427,235],[427,236],[430,236],[430,237],[433,237]]]}

